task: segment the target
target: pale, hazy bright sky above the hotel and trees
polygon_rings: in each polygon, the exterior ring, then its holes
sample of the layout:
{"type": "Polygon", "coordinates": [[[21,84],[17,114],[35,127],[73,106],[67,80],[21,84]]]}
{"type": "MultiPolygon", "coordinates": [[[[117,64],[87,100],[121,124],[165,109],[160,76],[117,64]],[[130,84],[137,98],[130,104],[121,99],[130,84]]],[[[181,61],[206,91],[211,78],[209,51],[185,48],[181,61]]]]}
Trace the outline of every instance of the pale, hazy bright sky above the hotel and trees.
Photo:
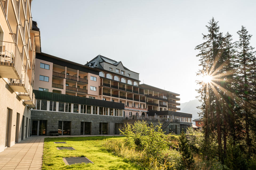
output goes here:
{"type": "Polygon", "coordinates": [[[141,83],[180,94],[198,95],[195,80],[205,25],[214,17],[220,31],[238,40],[244,25],[256,47],[256,1],[32,1],[41,31],[42,52],[80,64],[97,55],[122,61],[141,83]]]}

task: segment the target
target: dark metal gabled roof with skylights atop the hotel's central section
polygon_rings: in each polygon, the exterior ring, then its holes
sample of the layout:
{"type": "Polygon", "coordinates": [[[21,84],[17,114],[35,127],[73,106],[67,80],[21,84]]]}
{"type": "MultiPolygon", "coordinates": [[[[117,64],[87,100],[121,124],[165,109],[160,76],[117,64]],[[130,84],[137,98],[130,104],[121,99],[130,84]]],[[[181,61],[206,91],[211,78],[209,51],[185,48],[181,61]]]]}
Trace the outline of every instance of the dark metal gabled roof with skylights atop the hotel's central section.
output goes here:
{"type": "MultiPolygon", "coordinates": [[[[97,67],[99,69],[103,69],[103,67],[101,66],[100,63],[102,62],[106,62],[106,63],[110,63],[112,65],[115,65],[117,66],[119,63],[122,63],[121,61],[115,61],[115,60],[112,60],[110,58],[107,58],[107,57],[104,57],[104,56],[101,56],[101,55],[98,55],[97,57],[93,58],[93,60],[89,61],[88,63],[85,64],[85,66],[88,66],[88,67],[97,67]]],[[[123,63],[122,63],[123,65],[123,63]]],[[[123,66],[124,69],[126,70],[129,70],[127,69],[125,66],[123,66]]],[[[129,70],[131,71],[131,70],[129,70]]],[[[133,71],[134,72],[134,71],[133,71]]]]}

